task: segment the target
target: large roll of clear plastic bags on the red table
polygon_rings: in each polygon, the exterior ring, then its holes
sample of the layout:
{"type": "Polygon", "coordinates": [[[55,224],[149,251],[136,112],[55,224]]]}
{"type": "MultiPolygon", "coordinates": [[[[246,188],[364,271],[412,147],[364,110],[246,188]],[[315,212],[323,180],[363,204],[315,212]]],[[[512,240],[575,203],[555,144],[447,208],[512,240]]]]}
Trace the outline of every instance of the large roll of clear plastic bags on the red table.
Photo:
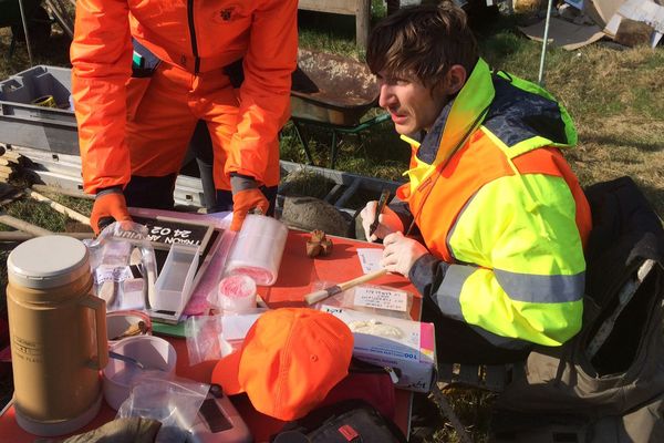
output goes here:
{"type": "Polygon", "coordinates": [[[281,222],[250,214],[238,233],[226,265],[229,276],[249,276],[260,286],[277,281],[288,228],[281,222]]]}

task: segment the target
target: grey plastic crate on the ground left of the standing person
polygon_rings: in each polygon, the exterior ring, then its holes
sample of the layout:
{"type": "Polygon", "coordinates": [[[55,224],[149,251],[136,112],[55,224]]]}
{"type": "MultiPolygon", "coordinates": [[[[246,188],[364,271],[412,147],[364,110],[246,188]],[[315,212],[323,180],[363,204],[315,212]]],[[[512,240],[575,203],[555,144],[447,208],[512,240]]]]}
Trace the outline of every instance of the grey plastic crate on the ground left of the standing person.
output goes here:
{"type": "Polygon", "coordinates": [[[0,82],[0,143],[61,154],[79,154],[70,109],[71,70],[38,65],[0,82]],[[59,107],[32,104],[52,95],[59,107]]]}

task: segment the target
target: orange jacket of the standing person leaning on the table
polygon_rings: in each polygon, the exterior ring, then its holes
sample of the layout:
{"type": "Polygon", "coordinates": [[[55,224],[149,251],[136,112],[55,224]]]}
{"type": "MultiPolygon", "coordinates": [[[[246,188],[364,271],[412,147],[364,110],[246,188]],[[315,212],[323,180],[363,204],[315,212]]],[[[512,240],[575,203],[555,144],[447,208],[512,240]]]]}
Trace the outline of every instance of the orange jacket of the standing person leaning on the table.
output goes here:
{"type": "Polygon", "coordinates": [[[129,181],[125,83],[132,38],[191,73],[243,58],[238,131],[226,173],[261,182],[268,162],[261,147],[288,120],[297,8],[297,0],[77,0],[72,94],[85,192],[129,181]]]}

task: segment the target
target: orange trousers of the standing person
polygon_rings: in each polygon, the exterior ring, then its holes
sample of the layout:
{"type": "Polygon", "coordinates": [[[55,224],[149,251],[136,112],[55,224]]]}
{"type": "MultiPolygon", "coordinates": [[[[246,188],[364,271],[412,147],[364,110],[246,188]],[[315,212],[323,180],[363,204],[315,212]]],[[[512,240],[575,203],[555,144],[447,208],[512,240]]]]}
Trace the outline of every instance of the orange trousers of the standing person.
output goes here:
{"type": "MultiPolygon", "coordinates": [[[[229,190],[224,166],[237,131],[238,92],[222,69],[194,75],[162,62],[152,76],[129,79],[126,140],[132,181],[166,176],[175,179],[196,124],[203,120],[212,142],[215,187],[229,190]]],[[[261,185],[273,187],[279,184],[279,141],[274,138],[263,147],[268,168],[261,185]]]]}

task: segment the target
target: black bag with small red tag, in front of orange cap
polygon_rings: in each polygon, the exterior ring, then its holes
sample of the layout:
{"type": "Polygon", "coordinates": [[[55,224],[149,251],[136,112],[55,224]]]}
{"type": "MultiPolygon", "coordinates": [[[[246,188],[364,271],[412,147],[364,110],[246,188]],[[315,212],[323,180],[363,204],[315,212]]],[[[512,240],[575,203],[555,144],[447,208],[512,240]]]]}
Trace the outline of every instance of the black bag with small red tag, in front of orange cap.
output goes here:
{"type": "Polygon", "coordinates": [[[273,443],[406,443],[394,422],[363,400],[345,400],[288,422],[273,443]]]}

